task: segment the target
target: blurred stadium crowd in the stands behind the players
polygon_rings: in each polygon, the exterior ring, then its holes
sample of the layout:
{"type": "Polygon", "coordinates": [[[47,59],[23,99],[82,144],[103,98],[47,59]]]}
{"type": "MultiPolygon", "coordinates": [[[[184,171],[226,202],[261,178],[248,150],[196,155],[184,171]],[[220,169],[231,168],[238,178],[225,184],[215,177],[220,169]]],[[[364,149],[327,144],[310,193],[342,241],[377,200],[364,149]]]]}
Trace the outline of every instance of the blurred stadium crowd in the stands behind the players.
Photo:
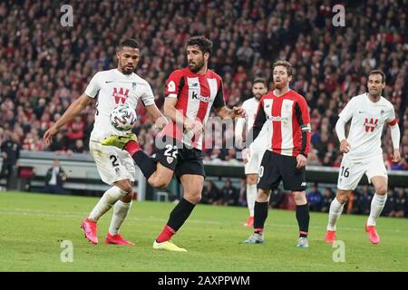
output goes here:
{"type": "MultiPolygon", "coordinates": [[[[167,76],[185,65],[185,40],[205,34],[214,42],[209,66],[223,77],[228,106],[251,97],[255,77],[270,83],[274,60],[294,64],[291,87],[306,97],[312,118],[310,165],[340,164],[337,114],[351,96],[365,92],[370,70],[384,70],[384,96],[400,120],[403,150],[403,160],[392,164],[387,132],[384,160],[389,169],[408,169],[403,4],[406,1],[347,4],[345,27],[335,27],[330,1],[78,1],[73,2],[73,27],[63,27],[55,1],[2,1],[0,142],[14,139],[24,150],[88,150],[93,107],[66,126],[50,148],[44,148],[42,136],[84,92],[94,73],[116,66],[117,43],[127,37],[140,40],[137,73],[151,83],[162,106],[167,76]]],[[[138,114],[135,131],[152,153],[156,131],[142,107],[138,114]]],[[[232,136],[219,132],[215,137],[225,143],[232,136]]],[[[205,150],[205,155],[208,160],[236,161],[234,149],[205,150]]]]}

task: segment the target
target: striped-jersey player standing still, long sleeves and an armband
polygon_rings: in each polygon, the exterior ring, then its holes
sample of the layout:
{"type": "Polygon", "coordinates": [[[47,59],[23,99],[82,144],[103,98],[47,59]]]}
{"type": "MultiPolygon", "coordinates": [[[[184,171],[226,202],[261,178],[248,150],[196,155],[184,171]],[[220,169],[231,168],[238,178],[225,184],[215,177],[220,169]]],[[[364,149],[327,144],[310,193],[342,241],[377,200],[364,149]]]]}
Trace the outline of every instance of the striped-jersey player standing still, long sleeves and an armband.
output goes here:
{"type": "MultiPolygon", "coordinates": [[[[267,151],[259,169],[257,201],[254,208],[254,234],[248,244],[264,242],[264,224],[271,190],[281,180],[284,188],[292,191],[296,202],[296,219],[299,225],[297,247],[308,247],[309,208],[306,200],[306,159],[310,149],[310,116],[303,96],[289,89],[292,65],[277,61],[273,65],[275,90],[262,97],[257,117],[248,138],[257,139],[263,126],[267,126],[267,151]]],[[[251,140],[247,141],[247,147],[251,140]]],[[[243,151],[244,161],[250,150],[243,151]]]]}

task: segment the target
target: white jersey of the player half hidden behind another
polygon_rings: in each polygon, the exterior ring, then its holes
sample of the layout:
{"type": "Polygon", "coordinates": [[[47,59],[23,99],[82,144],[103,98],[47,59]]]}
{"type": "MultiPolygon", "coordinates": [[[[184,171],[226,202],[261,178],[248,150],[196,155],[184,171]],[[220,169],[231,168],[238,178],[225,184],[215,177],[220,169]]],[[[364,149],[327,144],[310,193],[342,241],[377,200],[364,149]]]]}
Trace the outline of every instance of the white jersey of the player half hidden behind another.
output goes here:
{"type": "MultiPolygon", "coordinates": [[[[255,117],[257,117],[257,107],[259,106],[259,101],[253,97],[242,103],[242,109],[247,112],[247,117],[245,119],[239,118],[236,126],[236,136],[242,136],[242,131],[244,130],[243,125],[246,125],[246,131],[248,132],[252,129],[255,122],[255,117]]],[[[267,150],[268,144],[270,143],[270,138],[267,137],[267,125],[265,125],[259,132],[257,139],[250,145],[251,150],[263,151],[267,150]]]]}

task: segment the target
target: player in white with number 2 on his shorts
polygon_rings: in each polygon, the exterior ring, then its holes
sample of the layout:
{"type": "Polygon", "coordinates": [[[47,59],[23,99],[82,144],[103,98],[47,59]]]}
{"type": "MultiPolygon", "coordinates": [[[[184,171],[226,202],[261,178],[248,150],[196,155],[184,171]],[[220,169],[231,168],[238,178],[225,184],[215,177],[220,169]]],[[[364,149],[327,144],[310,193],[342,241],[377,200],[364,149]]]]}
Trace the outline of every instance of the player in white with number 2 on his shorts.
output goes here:
{"type": "Polygon", "coordinates": [[[123,41],[116,53],[118,67],[96,73],[83,95],[75,100],[63,116],[44,133],[44,143],[48,146],[64,124],[72,121],[97,99],[89,147],[102,181],[112,187],[103,194],[81,225],[85,237],[94,245],[98,244],[96,223],[113,206],[112,222],[105,243],[133,246],[119,234],[119,229],[131,208],[135,165],[127,151],[102,146],[101,142],[115,133],[110,123],[110,114],[121,103],[127,102],[136,109],[137,102],[141,101],[153,121],[159,120],[162,116],[154,102],[150,84],[133,73],[140,59],[140,50],[140,44],[136,40],[123,41]]]}

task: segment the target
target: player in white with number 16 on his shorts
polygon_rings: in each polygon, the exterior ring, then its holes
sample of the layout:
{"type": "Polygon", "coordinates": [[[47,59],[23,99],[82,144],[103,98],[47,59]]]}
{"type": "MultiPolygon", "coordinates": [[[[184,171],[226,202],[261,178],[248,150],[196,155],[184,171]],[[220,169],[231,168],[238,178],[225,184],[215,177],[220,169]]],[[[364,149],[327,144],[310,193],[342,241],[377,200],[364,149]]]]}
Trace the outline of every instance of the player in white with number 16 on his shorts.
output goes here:
{"type": "Polygon", "coordinates": [[[346,104],[335,124],[340,151],[345,154],[338,175],[337,194],[330,205],[326,243],[335,241],[336,221],[340,218],[351,191],[358,186],[364,174],[375,189],[365,231],[373,244],[380,242],[375,220],[384,208],[388,180],[381,149],[381,134],[384,124],[389,125],[393,140],[393,162],[398,162],[401,160],[400,129],[395,119],[393,104],[381,96],[385,87],[385,74],[379,70],[369,73],[367,87],[368,93],[355,96],[346,104]],[[345,138],[345,123],[350,119],[350,132],[345,138]]]}

